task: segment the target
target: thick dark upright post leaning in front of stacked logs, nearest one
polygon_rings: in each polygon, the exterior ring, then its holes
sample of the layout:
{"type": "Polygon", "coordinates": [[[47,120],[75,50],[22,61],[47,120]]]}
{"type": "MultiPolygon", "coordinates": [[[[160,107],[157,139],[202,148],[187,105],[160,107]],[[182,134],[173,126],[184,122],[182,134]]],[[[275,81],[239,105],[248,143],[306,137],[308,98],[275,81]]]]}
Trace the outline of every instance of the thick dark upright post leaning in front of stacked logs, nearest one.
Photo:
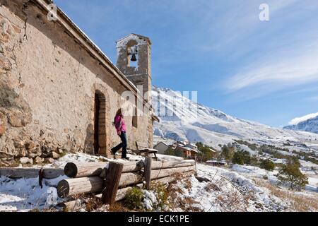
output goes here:
{"type": "Polygon", "coordinates": [[[124,165],[119,162],[110,162],[105,180],[105,189],[102,191],[102,203],[112,205],[116,201],[120,177],[124,165]]]}

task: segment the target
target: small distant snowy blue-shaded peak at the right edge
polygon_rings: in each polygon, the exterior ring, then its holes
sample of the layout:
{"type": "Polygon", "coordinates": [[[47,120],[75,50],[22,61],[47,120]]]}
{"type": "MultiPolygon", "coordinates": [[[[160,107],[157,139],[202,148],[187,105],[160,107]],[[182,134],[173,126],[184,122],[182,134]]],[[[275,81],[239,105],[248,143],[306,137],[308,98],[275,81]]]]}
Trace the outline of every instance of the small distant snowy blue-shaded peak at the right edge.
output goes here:
{"type": "Polygon", "coordinates": [[[284,129],[318,133],[318,113],[308,114],[305,117],[293,119],[290,124],[290,126],[285,126],[284,129]]]}

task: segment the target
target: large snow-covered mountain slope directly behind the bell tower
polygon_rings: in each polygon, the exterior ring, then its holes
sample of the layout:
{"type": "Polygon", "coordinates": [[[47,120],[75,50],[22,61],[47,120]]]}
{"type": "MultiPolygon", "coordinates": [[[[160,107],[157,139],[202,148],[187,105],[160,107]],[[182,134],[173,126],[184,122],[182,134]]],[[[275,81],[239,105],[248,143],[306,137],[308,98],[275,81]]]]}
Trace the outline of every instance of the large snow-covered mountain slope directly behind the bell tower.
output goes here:
{"type": "Polygon", "coordinates": [[[153,87],[153,106],[160,123],[155,124],[156,136],[173,140],[204,142],[215,148],[234,140],[283,146],[293,143],[318,150],[318,134],[305,131],[276,129],[254,121],[237,119],[217,109],[192,102],[181,93],[153,87]]]}

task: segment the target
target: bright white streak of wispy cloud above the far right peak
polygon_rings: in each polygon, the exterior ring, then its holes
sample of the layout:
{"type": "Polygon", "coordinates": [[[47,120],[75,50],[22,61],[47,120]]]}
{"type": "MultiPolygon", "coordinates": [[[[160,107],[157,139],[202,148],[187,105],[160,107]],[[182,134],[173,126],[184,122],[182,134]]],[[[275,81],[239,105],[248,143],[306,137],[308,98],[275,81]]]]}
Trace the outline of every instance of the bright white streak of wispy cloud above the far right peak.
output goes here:
{"type": "MultiPolygon", "coordinates": [[[[283,52],[288,52],[284,49],[283,52]]],[[[264,86],[267,91],[318,81],[318,48],[300,49],[292,55],[271,56],[254,61],[247,68],[232,76],[226,83],[230,92],[250,86],[264,86]]]]}

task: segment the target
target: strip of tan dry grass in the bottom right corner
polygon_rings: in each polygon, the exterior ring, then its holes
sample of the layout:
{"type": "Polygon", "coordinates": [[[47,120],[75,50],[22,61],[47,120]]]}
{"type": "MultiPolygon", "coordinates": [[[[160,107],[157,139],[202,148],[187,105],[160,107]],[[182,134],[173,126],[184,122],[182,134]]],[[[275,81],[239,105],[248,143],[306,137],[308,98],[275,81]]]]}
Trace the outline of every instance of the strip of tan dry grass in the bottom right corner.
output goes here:
{"type": "Polygon", "coordinates": [[[269,182],[266,182],[262,179],[254,179],[254,182],[257,186],[263,186],[266,189],[269,189],[271,194],[281,198],[281,200],[288,203],[288,207],[291,211],[297,212],[308,212],[308,211],[318,211],[318,196],[306,196],[304,194],[295,193],[293,191],[286,191],[280,189],[269,182]]]}

